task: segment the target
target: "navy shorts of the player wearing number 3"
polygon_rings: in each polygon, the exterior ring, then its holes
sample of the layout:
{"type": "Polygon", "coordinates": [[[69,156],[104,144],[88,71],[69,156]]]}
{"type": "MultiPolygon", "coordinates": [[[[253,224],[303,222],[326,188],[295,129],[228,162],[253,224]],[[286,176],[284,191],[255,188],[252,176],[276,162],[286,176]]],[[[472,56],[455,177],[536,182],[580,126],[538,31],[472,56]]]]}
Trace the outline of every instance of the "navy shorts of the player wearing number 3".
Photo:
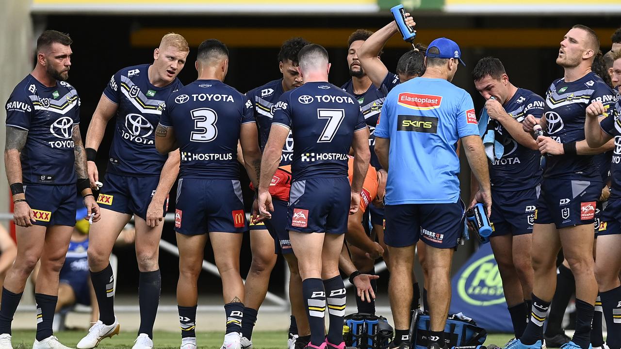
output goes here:
{"type": "Polygon", "coordinates": [[[248,230],[239,181],[181,178],[176,202],[175,232],[200,235],[248,230]]]}

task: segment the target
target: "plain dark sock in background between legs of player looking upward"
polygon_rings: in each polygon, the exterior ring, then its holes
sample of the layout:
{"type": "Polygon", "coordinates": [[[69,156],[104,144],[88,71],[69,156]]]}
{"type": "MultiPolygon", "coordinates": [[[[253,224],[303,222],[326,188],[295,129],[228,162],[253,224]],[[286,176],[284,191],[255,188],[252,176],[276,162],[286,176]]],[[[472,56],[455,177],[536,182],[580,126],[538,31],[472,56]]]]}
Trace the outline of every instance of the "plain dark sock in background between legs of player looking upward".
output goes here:
{"type": "Polygon", "coordinates": [[[571,295],[576,291],[576,280],[571,270],[564,265],[558,267],[556,274],[556,291],[552,297],[552,306],[548,316],[548,325],[545,329],[547,337],[554,337],[563,331],[563,316],[569,304],[571,295]]]}

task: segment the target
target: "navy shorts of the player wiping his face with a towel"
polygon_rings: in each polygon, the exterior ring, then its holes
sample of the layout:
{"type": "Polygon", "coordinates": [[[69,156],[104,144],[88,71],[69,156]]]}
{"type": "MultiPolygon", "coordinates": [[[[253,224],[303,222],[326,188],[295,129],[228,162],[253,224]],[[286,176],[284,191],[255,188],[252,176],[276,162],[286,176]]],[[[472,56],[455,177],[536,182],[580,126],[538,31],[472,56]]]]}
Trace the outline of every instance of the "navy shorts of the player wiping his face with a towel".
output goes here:
{"type": "Polygon", "coordinates": [[[539,186],[507,192],[492,189],[492,215],[489,221],[494,231],[491,236],[532,233],[539,191],[539,186]]]}

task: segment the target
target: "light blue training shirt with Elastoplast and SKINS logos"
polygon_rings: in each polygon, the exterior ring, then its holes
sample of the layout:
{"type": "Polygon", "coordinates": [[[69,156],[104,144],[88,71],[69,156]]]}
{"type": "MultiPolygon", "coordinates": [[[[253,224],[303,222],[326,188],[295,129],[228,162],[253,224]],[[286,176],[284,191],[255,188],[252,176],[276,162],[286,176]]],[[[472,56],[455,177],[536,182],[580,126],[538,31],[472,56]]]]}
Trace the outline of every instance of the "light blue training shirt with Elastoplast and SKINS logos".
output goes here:
{"type": "Polygon", "coordinates": [[[479,135],[472,97],[445,79],[415,78],[386,96],[375,136],[390,138],[386,204],[460,197],[456,143],[479,135]]]}

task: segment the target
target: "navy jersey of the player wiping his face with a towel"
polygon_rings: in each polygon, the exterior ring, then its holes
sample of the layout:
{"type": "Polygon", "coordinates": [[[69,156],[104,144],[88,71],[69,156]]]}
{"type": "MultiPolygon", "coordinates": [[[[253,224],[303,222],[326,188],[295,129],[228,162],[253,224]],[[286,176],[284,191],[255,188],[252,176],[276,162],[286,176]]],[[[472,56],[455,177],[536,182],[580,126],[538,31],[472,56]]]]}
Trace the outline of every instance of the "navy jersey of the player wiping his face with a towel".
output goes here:
{"type": "MultiPolygon", "coordinates": [[[[541,119],[543,116],[543,98],[519,88],[509,101],[505,102],[504,109],[517,122],[522,122],[528,116],[541,119]]],[[[491,161],[489,179],[495,191],[520,191],[526,188],[535,188],[541,181],[541,153],[518,143],[507,130],[499,123],[496,129],[504,138],[504,154],[502,158],[491,161]]]]}

